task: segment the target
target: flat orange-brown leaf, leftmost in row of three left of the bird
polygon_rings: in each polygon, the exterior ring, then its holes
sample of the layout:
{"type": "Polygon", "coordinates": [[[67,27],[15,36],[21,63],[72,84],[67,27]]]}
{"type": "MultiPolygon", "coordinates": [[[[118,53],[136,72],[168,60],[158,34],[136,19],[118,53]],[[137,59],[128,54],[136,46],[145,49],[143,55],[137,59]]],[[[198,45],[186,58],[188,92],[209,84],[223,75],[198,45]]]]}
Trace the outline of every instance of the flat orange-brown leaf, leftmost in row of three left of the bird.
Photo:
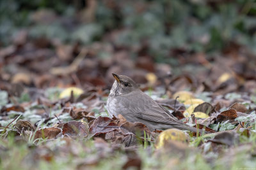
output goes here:
{"type": "Polygon", "coordinates": [[[36,131],[35,139],[37,138],[47,138],[47,139],[54,139],[57,138],[58,134],[62,132],[62,129],[58,127],[47,127],[44,129],[39,129],[36,131]]]}

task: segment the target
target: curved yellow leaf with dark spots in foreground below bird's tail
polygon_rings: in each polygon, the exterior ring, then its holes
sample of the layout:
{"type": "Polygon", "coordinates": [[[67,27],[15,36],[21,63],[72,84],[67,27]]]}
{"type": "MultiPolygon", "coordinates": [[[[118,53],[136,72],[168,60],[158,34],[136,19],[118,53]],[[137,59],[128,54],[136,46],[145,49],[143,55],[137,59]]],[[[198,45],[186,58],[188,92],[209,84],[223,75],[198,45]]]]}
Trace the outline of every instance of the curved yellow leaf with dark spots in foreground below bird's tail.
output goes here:
{"type": "Polygon", "coordinates": [[[156,141],[156,148],[161,148],[170,141],[181,141],[189,143],[189,136],[179,129],[167,129],[159,134],[156,141]]]}

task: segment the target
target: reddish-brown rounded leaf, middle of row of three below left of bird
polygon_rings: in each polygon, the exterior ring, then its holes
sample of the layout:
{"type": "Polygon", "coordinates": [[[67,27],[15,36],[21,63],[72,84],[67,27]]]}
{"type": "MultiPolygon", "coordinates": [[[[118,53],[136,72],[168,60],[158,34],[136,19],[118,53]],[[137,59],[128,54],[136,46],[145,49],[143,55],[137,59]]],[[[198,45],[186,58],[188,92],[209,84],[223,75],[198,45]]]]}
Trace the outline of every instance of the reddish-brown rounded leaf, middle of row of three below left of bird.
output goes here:
{"type": "Polygon", "coordinates": [[[84,122],[70,121],[63,125],[63,134],[67,136],[87,136],[89,134],[88,125],[84,122]]]}

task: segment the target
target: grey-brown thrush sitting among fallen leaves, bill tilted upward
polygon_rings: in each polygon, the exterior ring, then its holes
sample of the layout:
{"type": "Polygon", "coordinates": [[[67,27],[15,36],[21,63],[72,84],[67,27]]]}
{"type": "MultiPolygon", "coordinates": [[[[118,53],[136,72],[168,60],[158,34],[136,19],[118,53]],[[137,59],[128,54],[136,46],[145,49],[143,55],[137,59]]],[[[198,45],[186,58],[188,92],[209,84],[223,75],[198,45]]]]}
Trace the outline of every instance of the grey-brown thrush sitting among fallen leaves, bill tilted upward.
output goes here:
{"type": "Polygon", "coordinates": [[[128,122],[141,122],[147,125],[150,131],[177,128],[202,132],[174,117],[170,111],[142,92],[134,80],[128,76],[112,74],[115,82],[107,101],[109,115],[117,117],[121,114],[128,122]]]}

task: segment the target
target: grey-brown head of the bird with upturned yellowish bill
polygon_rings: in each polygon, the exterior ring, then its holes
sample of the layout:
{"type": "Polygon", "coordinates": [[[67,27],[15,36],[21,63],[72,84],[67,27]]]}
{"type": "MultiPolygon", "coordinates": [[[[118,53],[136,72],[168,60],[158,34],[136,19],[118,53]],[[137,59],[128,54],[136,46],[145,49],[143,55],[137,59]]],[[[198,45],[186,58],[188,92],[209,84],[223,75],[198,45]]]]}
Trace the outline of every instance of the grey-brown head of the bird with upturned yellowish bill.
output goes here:
{"type": "Polygon", "coordinates": [[[129,94],[130,92],[137,90],[138,85],[128,76],[112,73],[115,78],[115,82],[110,90],[110,96],[119,96],[123,94],[129,94]]]}

